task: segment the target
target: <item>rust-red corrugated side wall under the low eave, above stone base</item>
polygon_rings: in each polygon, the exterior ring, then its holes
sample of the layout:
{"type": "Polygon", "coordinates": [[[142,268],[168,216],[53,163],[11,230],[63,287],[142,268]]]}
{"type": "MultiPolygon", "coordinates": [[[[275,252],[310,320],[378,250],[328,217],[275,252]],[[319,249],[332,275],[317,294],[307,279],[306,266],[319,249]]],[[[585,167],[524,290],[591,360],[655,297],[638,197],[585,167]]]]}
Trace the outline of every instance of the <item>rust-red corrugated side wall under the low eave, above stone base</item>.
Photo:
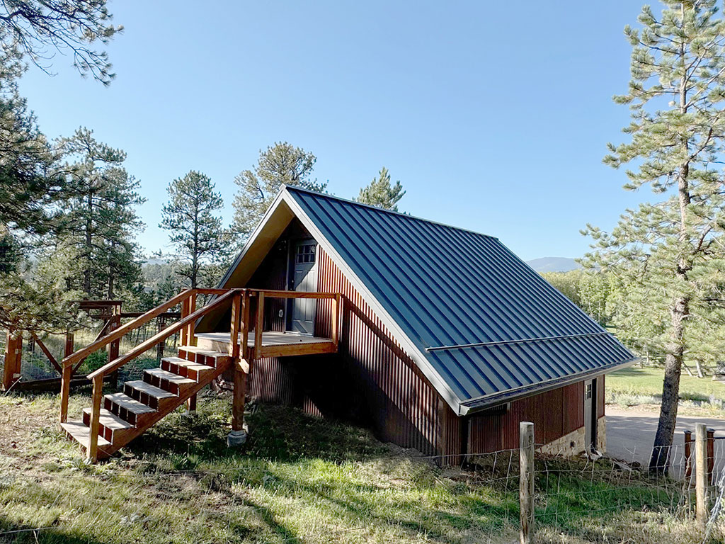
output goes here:
{"type": "Polygon", "coordinates": [[[518,448],[518,424],[534,423],[537,444],[546,444],[584,425],[584,382],[515,400],[503,414],[471,416],[468,453],[518,448]]]}

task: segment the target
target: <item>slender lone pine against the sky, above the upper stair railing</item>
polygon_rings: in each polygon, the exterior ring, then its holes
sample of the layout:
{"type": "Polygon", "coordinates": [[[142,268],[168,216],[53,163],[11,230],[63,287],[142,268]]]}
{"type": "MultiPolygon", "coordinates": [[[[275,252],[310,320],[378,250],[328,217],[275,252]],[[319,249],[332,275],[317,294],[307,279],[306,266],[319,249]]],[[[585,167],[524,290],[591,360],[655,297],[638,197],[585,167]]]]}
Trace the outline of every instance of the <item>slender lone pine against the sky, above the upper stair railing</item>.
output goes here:
{"type": "Polygon", "coordinates": [[[214,265],[224,257],[227,240],[222,220],[221,194],[211,179],[191,170],[173,180],[168,188],[169,202],[162,209],[161,228],[170,231],[169,239],[186,261],[181,276],[191,289],[199,286],[204,265],[214,265]]]}

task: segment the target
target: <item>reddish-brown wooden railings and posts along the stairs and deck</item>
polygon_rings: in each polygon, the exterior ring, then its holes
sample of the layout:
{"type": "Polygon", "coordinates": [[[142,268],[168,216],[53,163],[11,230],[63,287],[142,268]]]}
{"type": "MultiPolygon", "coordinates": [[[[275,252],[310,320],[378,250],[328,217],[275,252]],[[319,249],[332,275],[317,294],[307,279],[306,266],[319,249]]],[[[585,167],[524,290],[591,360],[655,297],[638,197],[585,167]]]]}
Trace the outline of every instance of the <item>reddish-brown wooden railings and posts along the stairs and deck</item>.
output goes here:
{"type": "Polygon", "coordinates": [[[104,376],[117,371],[126,363],[138,358],[139,355],[142,355],[144,352],[150,350],[152,347],[159,344],[159,342],[164,341],[167,337],[170,337],[178,331],[181,331],[182,345],[196,345],[196,337],[194,334],[196,321],[198,321],[202,316],[207,315],[207,313],[210,313],[210,311],[215,308],[218,308],[220,305],[231,301],[231,323],[229,328],[231,342],[229,344],[229,355],[232,357],[232,364],[234,366],[235,383],[239,381],[240,384],[239,387],[235,387],[234,389],[232,428],[235,430],[241,429],[243,408],[241,408],[241,413],[237,413],[239,410],[237,410],[236,407],[238,405],[241,405],[241,407],[244,406],[244,387],[242,387],[241,384],[246,382],[244,374],[249,371],[249,365],[243,359],[259,358],[262,353],[265,297],[330,299],[332,301],[333,316],[331,339],[335,350],[337,349],[337,346],[339,345],[341,319],[341,294],[339,293],[275,291],[265,289],[186,289],[170,300],[158,305],[156,308],[153,308],[143,315],[133,319],[133,321],[129,321],[124,325],[118,326],[117,329],[109,332],[109,334],[96,339],[96,341],[91,342],[91,344],[68,355],[62,360],[60,407],[61,423],[65,423],[65,421],[67,421],[68,397],[73,366],[77,365],[79,361],[82,361],[91,353],[112,344],[112,342],[117,343],[125,334],[144,326],[144,324],[148,323],[152,319],[181,303],[181,319],[179,321],[167,326],[162,331],[154,334],[154,336],[146,339],[144,342],[141,342],[141,344],[136,347],[133,347],[133,349],[128,353],[118,356],[106,365],[101,366],[98,370],[88,374],[88,379],[90,379],[93,383],[93,403],[91,406],[90,437],[88,440],[87,453],[88,458],[90,458],[92,462],[95,462],[98,454],[98,432],[101,400],[103,397],[104,376]],[[199,294],[212,294],[215,295],[215,297],[206,305],[202,306],[202,308],[196,309],[196,297],[199,294]],[[257,310],[255,312],[256,315],[254,316],[254,321],[252,321],[250,317],[250,299],[252,297],[257,297],[257,310]],[[254,353],[249,353],[248,339],[250,325],[252,322],[254,322],[254,353]],[[240,335],[241,342],[239,338],[240,335]],[[241,399],[237,398],[239,395],[241,395],[241,399]],[[239,429],[237,429],[237,427],[239,427],[239,429]]]}

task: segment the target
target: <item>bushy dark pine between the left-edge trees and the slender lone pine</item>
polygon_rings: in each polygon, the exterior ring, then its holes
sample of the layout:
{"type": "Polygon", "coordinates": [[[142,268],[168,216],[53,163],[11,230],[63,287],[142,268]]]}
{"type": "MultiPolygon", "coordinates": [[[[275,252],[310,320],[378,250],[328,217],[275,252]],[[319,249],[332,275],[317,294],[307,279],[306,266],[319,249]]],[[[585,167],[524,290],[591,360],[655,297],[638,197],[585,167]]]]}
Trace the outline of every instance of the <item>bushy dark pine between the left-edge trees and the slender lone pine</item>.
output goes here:
{"type": "Polygon", "coordinates": [[[136,234],[143,223],[136,206],[138,181],[123,168],[126,155],[93,137],[93,131],[79,128],[62,140],[67,160],[65,233],[58,247],[74,247],[77,259],[67,270],[70,289],[88,298],[114,298],[119,282],[122,289],[139,278],[136,234]]]}

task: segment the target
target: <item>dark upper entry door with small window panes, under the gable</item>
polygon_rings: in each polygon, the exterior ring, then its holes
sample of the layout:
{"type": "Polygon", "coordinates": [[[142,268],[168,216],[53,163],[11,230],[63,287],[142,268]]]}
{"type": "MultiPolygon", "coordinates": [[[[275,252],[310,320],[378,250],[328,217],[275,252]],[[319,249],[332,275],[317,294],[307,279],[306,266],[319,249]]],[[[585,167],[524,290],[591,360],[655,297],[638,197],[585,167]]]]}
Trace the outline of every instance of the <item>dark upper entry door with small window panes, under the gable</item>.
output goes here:
{"type": "MultiPolygon", "coordinates": [[[[294,244],[292,257],[292,285],[294,291],[317,291],[317,242],[305,240],[294,244]]],[[[315,299],[291,300],[291,330],[313,334],[315,332],[315,299]]]]}

